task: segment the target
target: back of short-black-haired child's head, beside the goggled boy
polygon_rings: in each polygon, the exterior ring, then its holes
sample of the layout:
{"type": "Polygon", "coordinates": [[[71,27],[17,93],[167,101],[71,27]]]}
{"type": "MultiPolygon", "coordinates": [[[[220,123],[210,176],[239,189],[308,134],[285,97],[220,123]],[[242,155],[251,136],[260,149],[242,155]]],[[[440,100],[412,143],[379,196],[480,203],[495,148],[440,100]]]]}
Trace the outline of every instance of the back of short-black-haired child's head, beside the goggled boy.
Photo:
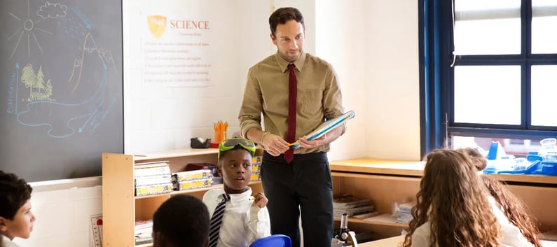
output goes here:
{"type": "Polygon", "coordinates": [[[153,247],[205,247],[209,211],[200,199],[175,195],[153,214],[153,247]]]}

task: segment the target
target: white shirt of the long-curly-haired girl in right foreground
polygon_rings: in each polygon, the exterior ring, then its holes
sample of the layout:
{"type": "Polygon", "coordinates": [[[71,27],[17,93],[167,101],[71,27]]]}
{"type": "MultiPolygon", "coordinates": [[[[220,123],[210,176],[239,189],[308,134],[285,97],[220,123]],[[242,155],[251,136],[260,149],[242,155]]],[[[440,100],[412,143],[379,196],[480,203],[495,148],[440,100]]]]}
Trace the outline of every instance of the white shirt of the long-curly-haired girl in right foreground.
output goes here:
{"type": "MultiPolygon", "coordinates": [[[[495,202],[495,198],[489,196],[488,201],[491,204],[493,213],[497,218],[497,221],[501,224],[502,237],[500,239],[502,247],[522,247],[522,246],[533,246],[532,243],[528,241],[521,233],[521,230],[513,225],[504,215],[503,211],[500,209],[499,204],[495,202]]],[[[412,247],[429,247],[431,246],[431,241],[429,240],[429,235],[431,234],[431,226],[429,222],[420,225],[416,228],[412,234],[412,247]]]]}

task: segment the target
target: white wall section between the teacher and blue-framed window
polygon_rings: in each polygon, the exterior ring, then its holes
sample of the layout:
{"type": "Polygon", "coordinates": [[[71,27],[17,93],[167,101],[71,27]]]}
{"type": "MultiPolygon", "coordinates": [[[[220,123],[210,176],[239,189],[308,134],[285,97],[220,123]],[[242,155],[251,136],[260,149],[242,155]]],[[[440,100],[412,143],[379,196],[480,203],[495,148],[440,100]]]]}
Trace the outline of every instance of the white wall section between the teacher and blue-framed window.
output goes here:
{"type": "Polygon", "coordinates": [[[331,160],[420,160],[418,2],[317,1],[317,55],[356,112],[331,160]]]}

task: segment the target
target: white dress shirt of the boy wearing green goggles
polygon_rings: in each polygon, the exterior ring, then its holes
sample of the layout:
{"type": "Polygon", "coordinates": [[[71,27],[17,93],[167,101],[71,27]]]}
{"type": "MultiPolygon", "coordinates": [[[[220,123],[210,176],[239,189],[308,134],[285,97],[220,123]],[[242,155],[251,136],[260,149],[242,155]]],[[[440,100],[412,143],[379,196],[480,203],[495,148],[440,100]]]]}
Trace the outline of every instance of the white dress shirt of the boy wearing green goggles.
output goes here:
{"type": "MultiPolygon", "coordinates": [[[[248,187],[249,188],[249,187],[248,187]]],[[[209,217],[213,215],[219,195],[223,189],[212,189],[205,192],[203,202],[209,209],[209,217]]],[[[270,220],[267,207],[259,209],[249,197],[252,189],[241,194],[229,194],[231,199],[226,202],[218,247],[247,247],[253,241],[270,236],[270,220]]]]}

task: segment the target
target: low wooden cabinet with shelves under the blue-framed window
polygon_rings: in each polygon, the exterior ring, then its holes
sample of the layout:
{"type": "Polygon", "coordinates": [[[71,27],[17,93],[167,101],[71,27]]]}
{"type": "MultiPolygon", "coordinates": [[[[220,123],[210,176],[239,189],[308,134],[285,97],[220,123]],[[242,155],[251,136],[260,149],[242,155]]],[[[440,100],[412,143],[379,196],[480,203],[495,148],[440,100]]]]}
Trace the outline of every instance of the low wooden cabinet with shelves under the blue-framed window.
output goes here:
{"type": "MultiPolygon", "coordinates": [[[[333,194],[350,194],[373,200],[382,215],[366,220],[350,218],[348,227],[357,232],[372,231],[378,237],[401,234],[407,224],[390,219],[393,202],[415,200],[420,188],[424,162],[355,159],[330,162],[333,194]]],[[[557,176],[486,175],[504,181],[530,209],[542,232],[557,229],[557,176]]]]}

